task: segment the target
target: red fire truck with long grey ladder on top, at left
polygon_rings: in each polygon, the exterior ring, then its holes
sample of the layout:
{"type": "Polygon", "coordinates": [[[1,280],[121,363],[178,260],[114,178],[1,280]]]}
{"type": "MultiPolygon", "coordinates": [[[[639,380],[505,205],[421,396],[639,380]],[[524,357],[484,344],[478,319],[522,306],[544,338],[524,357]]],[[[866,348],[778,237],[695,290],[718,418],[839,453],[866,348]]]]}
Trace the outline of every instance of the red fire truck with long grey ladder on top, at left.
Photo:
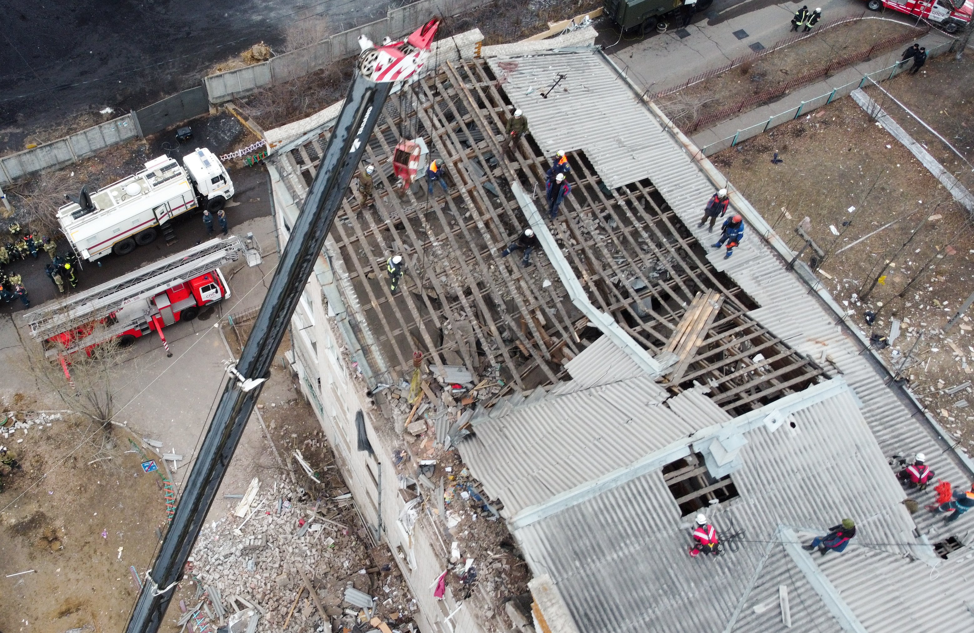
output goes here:
{"type": "Polygon", "coordinates": [[[230,297],[219,266],[245,255],[260,264],[260,249],[245,238],[211,239],[112,281],[56,301],[25,315],[30,334],[48,358],[94,348],[117,338],[123,345],[156,332],[169,352],[163,328],[195,319],[206,305],[230,297]]]}

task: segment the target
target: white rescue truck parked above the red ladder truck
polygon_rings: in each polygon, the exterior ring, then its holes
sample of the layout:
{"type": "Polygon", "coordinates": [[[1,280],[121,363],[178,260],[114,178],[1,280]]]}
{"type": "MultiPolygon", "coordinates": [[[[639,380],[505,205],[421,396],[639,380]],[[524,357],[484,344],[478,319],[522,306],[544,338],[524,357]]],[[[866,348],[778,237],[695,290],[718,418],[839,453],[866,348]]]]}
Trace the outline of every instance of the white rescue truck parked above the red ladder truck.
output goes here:
{"type": "Polygon", "coordinates": [[[183,157],[159,157],[145,169],[108,187],[77,198],[57,210],[57,222],[78,257],[94,262],[109,253],[128,255],[167,232],[172,218],[199,206],[211,213],[223,208],[234,184],[219,158],[206,148],[183,157]]]}

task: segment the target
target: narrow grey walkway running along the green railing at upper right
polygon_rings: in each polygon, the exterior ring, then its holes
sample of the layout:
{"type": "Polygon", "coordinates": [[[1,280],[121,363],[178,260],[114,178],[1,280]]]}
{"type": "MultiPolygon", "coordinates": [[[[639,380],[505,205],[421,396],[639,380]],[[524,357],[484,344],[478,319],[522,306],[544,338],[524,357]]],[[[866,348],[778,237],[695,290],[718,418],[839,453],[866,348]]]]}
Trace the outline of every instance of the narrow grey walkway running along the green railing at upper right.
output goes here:
{"type": "MultiPolygon", "coordinates": [[[[928,51],[950,41],[951,38],[936,30],[931,30],[917,40],[919,45],[925,47],[928,51]]],[[[698,148],[705,148],[712,143],[733,136],[738,130],[747,129],[759,123],[766,123],[770,117],[793,110],[800,106],[803,101],[811,101],[823,94],[830,93],[835,88],[841,88],[852,82],[859,82],[864,75],[888,68],[899,61],[900,55],[908,46],[911,45],[908,43],[896,47],[896,49],[889,53],[867,59],[854,66],[849,66],[832,77],[809,84],[804,88],[798,88],[776,101],[745,112],[730,121],[718,123],[708,129],[694,132],[692,137],[693,144],[698,148]]],[[[917,81],[923,81],[922,76],[918,77],[917,81]]]]}

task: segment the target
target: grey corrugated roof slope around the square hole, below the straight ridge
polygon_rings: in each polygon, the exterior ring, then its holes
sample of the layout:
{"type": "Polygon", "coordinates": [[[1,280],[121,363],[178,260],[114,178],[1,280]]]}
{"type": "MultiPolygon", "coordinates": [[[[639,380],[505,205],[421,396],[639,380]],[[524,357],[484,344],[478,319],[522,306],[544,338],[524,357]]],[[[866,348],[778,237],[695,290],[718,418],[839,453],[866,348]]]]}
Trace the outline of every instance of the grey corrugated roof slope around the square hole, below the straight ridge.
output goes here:
{"type": "MultiPolygon", "coordinates": [[[[736,552],[688,555],[690,524],[681,524],[659,471],[532,523],[516,537],[532,569],[551,576],[588,633],[724,630],[748,599],[768,546],[780,549],[773,541],[782,524],[806,530],[810,539],[853,516],[860,543],[891,556],[919,545],[900,486],[850,393],[812,404],[793,421],[795,428],[785,424],[771,433],[762,426],[747,434],[744,467],[731,475],[739,499],[710,512],[725,539],[734,529],[744,531],[736,552]]],[[[792,589],[803,590],[796,602],[816,599],[802,586],[792,589]]]]}

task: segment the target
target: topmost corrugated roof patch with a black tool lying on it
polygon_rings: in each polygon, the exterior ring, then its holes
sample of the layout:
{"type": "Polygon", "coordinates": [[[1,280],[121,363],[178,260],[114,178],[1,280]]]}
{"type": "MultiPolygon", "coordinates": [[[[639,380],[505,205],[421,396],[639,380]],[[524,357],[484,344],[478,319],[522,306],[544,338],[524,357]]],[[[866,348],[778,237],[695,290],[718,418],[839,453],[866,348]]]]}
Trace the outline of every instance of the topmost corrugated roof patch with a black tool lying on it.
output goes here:
{"type": "Polygon", "coordinates": [[[543,152],[551,156],[558,150],[583,151],[610,188],[646,178],[672,152],[656,119],[590,51],[487,61],[495,75],[504,78],[502,88],[524,111],[543,152]],[[517,67],[506,71],[502,63],[517,67]],[[543,98],[559,74],[565,78],[543,98]]]}

